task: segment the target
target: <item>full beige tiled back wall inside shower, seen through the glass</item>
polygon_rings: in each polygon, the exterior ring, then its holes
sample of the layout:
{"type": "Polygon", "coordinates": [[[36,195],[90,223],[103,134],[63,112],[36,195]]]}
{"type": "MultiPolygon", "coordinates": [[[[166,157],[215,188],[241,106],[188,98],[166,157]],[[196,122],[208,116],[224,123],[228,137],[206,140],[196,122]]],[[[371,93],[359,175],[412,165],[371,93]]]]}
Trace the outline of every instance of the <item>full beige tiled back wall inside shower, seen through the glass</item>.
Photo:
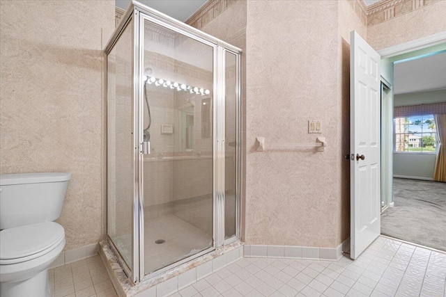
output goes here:
{"type": "MultiPolygon", "coordinates": [[[[190,52],[190,39],[182,35],[153,30],[146,26],[145,67],[151,67],[153,77],[207,88],[212,92],[213,72],[206,69],[201,56],[180,57],[182,49],[190,52]],[[164,51],[164,52],[162,52],[164,51]],[[162,53],[159,53],[162,52],[162,53]],[[176,58],[167,55],[175,53],[176,58]],[[179,60],[182,61],[179,61],[179,60]],[[198,59],[198,60],[197,60],[198,59]],[[185,63],[183,61],[188,61],[185,63]],[[192,65],[193,64],[193,65],[192,65]],[[194,65],[202,65],[197,67],[194,65]]],[[[228,62],[226,68],[226,192],[233,197],[236,190],[236,65],[228,62]],[[231,64],[231,65],[229,65],[231,64]]],[[[213,102],[209,101],[208,122],[202,118],[204,100],[210,96],[190,95],[166,88],[148,85],[148,102],[151,106],[151,155],[144,159],[144,206],[148,218],[163,214],[176,214],[187,223],[210,232],[213,203],[213,102]],[[194,114],[194,147],[185,152],[181,147],[179,118],[183,109],[194,114]],[[161,125],[173,125],[173,134],[161,134],[161,125]],[[210,127],[208,135],[203,129],[210,127]]],[[[146,109],[146,106],[144,106],[146,109]]],[[[148,119],[145,118],[147,121],[148,119]]],[[[146,126],[146,124],[144,125],[146,126]]],[[[209,129],[209,128],[208,128],[209,129]]],[[[235,202],[228,198],[227,215],[235,221],[235,202]]],[[[233,229],[233,226],[231,227],[233,229]]]]}

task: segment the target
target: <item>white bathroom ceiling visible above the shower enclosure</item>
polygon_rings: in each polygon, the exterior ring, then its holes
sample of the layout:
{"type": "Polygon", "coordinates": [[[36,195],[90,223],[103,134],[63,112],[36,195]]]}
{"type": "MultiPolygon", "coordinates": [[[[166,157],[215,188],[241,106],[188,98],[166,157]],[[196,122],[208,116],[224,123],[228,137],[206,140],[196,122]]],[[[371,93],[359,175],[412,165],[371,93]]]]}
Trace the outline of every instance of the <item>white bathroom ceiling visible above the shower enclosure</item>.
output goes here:
{"type": "MultiPolygon", "coordinates": [[[[115,0],[118,8],[127,9],[130,0],[115,0]]],[[[139,2],[150,6],[174,19],[185,22],[191,17],[207,0],[139,0],[139,2]]]]}

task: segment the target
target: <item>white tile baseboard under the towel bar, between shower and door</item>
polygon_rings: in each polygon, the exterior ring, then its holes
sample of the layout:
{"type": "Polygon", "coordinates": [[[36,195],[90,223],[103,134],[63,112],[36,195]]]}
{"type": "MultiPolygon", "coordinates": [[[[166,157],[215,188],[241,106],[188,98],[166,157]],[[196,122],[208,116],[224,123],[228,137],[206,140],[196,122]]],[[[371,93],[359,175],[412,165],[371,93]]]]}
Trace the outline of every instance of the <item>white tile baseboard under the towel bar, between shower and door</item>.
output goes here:
{"type": "Polygon", "coordinates": [[[284,258],[284,259],[318,259],[337,261],[342,257],[342,251],[348,246],[350,237],[337,248],[317,248],[309,246],[268,246],[246,245],[243,248],[243,257],[256,258],[284,258]]]}

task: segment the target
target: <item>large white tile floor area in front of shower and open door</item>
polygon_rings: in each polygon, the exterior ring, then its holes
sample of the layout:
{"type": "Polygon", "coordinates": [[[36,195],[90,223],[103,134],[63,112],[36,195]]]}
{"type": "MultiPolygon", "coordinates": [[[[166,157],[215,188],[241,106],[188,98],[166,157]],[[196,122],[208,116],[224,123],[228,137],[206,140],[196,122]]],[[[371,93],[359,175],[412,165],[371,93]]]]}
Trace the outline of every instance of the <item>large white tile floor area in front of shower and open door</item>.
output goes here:
{"type": "Polygon", "coordinates": [[[172,297],[446,297],[446,254],[378,237],[353,262],[244,258],[172,297]]]}

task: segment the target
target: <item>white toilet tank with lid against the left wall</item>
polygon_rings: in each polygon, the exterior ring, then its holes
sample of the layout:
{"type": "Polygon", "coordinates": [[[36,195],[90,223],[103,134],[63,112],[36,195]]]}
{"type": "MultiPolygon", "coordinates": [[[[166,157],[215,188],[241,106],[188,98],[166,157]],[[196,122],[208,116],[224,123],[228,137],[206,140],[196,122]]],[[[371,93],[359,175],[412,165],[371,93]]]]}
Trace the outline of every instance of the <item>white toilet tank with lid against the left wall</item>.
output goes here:
{"type": "Polygon", "coordinates": [[[61,216],[71,173],[0,175],[0,230],[61,216]]]}

